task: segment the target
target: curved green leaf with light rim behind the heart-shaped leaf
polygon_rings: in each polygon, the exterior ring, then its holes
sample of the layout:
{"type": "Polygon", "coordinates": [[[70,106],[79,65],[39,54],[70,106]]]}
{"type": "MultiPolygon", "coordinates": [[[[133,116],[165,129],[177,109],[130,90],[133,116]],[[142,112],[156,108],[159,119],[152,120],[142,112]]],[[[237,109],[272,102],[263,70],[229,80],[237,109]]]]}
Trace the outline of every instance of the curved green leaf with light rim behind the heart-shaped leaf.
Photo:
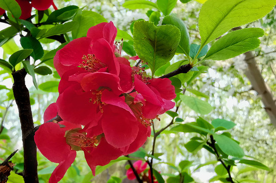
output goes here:
{"type": "Polygon", "coordinates": [[[190,36],[188,29],[185,23],[176,16],[165,16],[162,21],[162,25],[174,25],[179,28],[181,33],[181,38],[179,41],[179,45],[176,49],[177,53],[184,53],[186,56],[189,56],[190,52],[190,36]]]}

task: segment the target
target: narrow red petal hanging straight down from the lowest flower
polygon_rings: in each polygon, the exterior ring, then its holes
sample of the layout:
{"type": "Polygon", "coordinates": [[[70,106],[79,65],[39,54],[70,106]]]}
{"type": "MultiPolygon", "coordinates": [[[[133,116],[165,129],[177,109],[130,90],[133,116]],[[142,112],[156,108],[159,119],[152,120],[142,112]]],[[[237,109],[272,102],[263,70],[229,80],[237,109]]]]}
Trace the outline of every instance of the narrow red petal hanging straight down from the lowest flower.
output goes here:
{"type": "MultiPolygon", "coordinates": [[[[58,156],[58,155],[57,155],[58,156]]],[[[67,154],[67,158],[63,160],[52,172],[51,177],[49,179],[49,183],[57,183],[60,181],[68,168],[72,165],[76,158],[76,151],[71,150],[69,154],[67,154]]]]}

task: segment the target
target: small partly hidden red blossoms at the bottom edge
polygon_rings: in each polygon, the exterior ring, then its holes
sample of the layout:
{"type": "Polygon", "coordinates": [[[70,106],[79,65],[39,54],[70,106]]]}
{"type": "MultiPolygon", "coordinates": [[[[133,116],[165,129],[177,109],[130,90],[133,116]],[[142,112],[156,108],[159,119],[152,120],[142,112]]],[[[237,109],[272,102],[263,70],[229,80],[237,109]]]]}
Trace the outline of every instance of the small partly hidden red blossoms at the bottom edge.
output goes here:
{"type": "MultiPolygon", "coordinates": [[[[143,161],[142,160],[138,160],[135,163],[133,163],[133,167],[135,169],[135,171],[137,172],[137,174],[139,176],[141,176],[141,179],[143,180],[143,182],[147,182],[147,183],[151,183],[151,171],[149,169],[149,171],[147,173],[145,173],[144,171],[147,169],[147,163],[145,162],[144,164],[142,164],[143,161]]],[[[134,175],[134,172],[131,168],[129,168],[126,171],[126,176],[129,180],[134,180],[136,177],[134,175]]],[[[153,176],[153,182],[154,183],[158,183],[158,181],[156,180],[156,178],[153,176]]]]}

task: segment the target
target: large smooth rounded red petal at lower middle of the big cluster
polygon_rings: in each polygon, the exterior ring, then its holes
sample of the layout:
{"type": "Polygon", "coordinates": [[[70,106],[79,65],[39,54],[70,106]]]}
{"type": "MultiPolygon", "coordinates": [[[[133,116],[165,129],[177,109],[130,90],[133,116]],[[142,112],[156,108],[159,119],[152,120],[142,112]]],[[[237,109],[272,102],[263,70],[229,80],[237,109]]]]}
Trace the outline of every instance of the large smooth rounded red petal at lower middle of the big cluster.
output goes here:
{"type": "Polygon", "coordinates": [[[106,105],[102,116],[102,130],[106,141],[121,148],[131,144],[137,137],[139,123],[122,108],[106,105]]]}

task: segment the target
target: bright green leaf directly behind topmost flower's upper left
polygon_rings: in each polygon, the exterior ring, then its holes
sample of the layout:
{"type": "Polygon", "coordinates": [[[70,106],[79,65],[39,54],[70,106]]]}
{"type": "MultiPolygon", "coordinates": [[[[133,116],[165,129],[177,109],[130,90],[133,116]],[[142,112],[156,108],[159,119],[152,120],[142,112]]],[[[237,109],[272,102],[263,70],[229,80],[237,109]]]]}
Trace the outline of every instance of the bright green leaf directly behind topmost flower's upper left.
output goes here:
{"type": "Polygon", "coordinates": [[[85,37],[90,27],[95,25],[95,19],[90,16],[77,15],[74,18],[77,22],[76,28],[72,31],[73,39],[85,37]]]}

